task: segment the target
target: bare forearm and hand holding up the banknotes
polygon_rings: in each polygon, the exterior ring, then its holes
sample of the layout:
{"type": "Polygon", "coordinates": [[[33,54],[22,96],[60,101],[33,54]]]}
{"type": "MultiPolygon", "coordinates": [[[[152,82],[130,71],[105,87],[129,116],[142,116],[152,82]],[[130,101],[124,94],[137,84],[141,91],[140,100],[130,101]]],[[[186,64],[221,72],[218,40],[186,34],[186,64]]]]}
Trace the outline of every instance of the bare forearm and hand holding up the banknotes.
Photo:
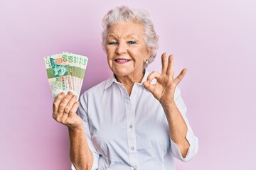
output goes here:
{"type": "Polygon", "coordinates": [[[70,159],[75,169],[91,169],[93,157],[85,137],[82,119],[75,113],[79,102],[71,92],[61,93],[53,102],[53,118],[68,127],[70,136],[70,159]]]}

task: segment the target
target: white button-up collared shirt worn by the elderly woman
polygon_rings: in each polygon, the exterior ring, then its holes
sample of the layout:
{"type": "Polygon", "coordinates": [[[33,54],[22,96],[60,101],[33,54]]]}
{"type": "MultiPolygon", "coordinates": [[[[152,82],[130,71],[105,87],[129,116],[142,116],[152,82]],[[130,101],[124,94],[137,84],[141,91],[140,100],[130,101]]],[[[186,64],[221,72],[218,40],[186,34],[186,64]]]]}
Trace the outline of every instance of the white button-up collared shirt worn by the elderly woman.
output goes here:
{"type": "MultiPolygon", "coordinates": [[[[148,74],[145,73],[142,82],[148,74]]],[[[161,104],[142,83],[134,84],[130,96],[114,76],[85,91],[80,97],[78,115],[93,153],[92,169],[174,170],[174,157],[183,162],[192,159],[198,152],[198,139],[188,124],[178,88],[174,97],[188,126],[186,139],[190,147],[185,158],[169,136],[161,104]]]]}

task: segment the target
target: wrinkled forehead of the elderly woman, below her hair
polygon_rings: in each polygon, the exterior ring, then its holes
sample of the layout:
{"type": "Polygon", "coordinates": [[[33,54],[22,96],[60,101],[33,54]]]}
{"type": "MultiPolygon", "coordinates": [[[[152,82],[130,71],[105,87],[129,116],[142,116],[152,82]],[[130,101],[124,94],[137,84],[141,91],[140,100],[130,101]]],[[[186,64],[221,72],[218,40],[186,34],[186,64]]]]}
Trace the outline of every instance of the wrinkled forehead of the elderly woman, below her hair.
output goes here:
{"type": "Polygon", "coordinates": [[[144,29],[141,23],[132,21],[114,23],[110,26],[107,37],[115,38],[143,38],[144,29]]]}

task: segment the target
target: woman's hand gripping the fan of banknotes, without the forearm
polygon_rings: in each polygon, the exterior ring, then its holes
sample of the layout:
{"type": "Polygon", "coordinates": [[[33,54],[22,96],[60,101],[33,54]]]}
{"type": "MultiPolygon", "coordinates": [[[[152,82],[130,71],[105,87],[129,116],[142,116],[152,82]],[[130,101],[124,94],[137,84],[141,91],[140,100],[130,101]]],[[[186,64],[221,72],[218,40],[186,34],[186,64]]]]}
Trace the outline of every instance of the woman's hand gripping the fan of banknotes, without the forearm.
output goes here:
{"type": "Polygon", "coordinates": [[[81,128],[82,126],[82,119],[75,113],[79,106],[79,102],[76,101],[77,98],[71,91],[67,95],[62,92],[53,102],[53,118],[70,129],[81,128]]]}

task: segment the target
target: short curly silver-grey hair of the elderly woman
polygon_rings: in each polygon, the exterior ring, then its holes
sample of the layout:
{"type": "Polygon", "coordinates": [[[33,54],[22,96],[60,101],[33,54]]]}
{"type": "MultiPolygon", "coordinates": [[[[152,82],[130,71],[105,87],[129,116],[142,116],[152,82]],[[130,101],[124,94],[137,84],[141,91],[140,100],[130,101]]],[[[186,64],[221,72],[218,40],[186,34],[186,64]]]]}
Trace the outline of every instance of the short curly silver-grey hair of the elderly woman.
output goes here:
{"type": "Polygon", "coordinates": [[[121,23],[126,21],[134,21],[141,23],[144,28],[144,41],[146,47],[151,47],[151,55],[149,56],[148,62],[144,63],[144,68],[147,65],[154,61],[156,57],[156,50],[159,47],[159,36],[156,35],[156,31],[154,30],[154,24],[149,17],[149,13],[147,13],[143,9],[131,9],[128,6],[117,6],[112,10],[108,11],[108,13],[102,19],[102,46],[103,49],[106,50],[105,46],[107,45],[107,34],[110,27],[114,23],[121,23]]]}

